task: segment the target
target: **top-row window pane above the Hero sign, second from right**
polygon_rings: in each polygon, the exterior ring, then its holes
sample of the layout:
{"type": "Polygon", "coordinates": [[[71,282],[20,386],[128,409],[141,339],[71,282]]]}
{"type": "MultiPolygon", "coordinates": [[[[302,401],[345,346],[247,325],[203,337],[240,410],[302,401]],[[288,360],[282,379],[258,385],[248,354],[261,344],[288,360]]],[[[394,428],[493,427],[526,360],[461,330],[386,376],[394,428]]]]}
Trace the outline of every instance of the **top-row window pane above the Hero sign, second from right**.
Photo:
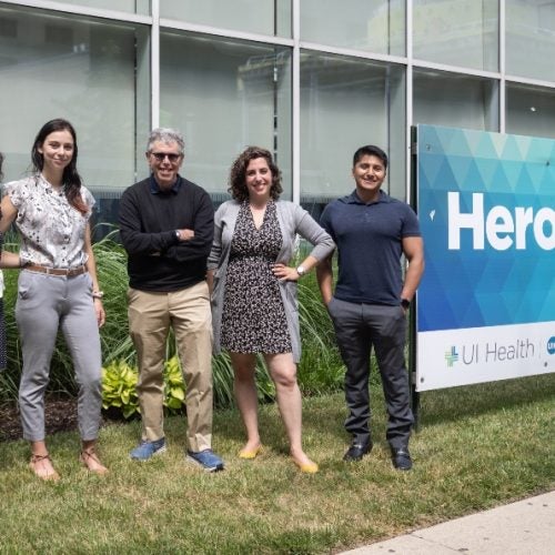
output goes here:
{"type": "Polygon", "coordinates": [[[498,19],[494,0],[414,0],[413,56],[498,71],[498,19]]]}

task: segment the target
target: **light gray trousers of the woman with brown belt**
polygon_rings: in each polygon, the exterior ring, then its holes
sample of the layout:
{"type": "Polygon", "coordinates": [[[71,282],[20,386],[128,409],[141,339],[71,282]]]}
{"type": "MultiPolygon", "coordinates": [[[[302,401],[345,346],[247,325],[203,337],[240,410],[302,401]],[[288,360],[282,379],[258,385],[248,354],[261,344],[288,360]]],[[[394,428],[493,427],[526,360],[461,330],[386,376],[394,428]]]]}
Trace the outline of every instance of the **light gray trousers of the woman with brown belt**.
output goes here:
{"type": "Polygon", "coordinates": [[[79,432],[83,441],[95,440],[102,406],[102,361],[91,276],[84,273],[65,278],[23,270],[18,282],[16,320],[23,353],[19,387],[23,437],[31,442],[44,440],[44,391],[60,327],[79,386],[79,432]]]}

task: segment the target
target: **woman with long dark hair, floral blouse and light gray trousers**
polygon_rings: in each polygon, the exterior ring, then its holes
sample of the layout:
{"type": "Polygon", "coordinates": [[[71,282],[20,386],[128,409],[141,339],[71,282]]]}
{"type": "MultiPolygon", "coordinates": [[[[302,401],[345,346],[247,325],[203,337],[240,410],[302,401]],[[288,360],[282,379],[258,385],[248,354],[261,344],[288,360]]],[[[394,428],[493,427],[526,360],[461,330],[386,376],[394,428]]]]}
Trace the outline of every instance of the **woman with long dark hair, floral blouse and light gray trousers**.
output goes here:
{"type": "Polygon", "coordinates": [[[93,473],[108,472],[95,451],[102,402],[99,326],[105,315],[89,226],[94,199],[81,184],[77,157],[71,123],[47,122],[31,150],[33,174],[8,183],[1,204],[0,231],[14,222],[21,235],[16,304],[23,354],[19,410],[23,437],[31,442],[30,467],[43,480],[59,478],[44,431],[44,391],[59,329],[79,384],[79,460],[93,473]]]}

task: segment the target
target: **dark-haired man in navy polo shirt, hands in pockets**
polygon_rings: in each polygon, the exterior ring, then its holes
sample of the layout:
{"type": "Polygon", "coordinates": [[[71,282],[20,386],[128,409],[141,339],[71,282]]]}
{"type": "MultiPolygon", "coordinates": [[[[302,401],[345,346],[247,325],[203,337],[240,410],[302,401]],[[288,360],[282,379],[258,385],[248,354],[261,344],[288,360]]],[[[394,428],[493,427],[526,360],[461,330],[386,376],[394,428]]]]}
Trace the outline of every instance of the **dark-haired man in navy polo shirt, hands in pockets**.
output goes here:
{"type": "Polygon", "coordinates": [[[355,190],[331,202],[321,219],[337,244],[334,294],[331,259],[319,266],[317,279],[346,366],[345,428],[352,443],[343,458],[359,461],[372,450],[369,375],[374,347],[389,415],[386,440],[393,465],[408,471],[413,414],[404,359],[405,316],[424,271],[424,253],[416,214],[381,190],[386,171],[387,155],[382,149],[367,145],[354,153],[355,190]],[[408,263],[404,281],[403,254],[408,263]]]}

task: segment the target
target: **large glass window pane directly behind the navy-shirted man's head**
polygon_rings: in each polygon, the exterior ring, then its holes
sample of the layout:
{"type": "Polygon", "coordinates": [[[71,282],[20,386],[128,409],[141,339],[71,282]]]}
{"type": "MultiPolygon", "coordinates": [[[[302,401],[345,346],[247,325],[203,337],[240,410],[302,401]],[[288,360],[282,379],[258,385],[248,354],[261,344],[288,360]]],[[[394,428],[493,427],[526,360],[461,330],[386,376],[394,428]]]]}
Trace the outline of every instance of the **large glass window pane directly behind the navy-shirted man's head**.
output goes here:
{"type": "Polygon", "coordinates": [[[314,215],[354,189],[355,150],[376,144],[390,159],[389,190],[405,198],[404,69],[360,59],[301,57],[301,200],[314,215]]]}

